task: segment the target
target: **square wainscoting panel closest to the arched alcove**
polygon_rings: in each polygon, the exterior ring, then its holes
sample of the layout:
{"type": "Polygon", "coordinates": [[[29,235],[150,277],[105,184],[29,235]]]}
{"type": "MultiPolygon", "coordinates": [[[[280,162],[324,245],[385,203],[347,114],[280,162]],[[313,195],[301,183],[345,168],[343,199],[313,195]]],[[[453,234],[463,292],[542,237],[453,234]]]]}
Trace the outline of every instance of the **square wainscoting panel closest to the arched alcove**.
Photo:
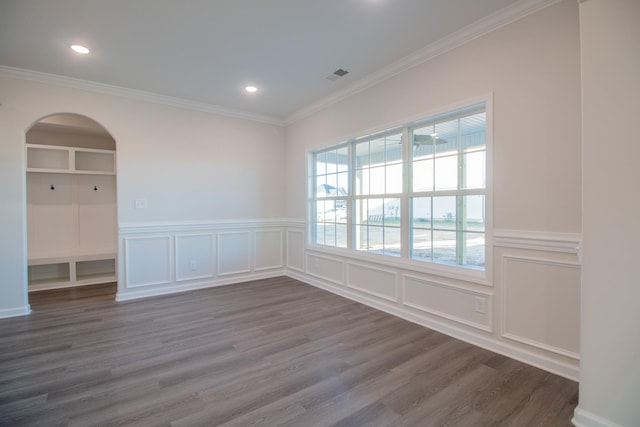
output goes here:
{"type": "Polygon", "coordinates": [[[171,236],[125,238],[124,248],[127,288],[171,282],[171,236]]]}

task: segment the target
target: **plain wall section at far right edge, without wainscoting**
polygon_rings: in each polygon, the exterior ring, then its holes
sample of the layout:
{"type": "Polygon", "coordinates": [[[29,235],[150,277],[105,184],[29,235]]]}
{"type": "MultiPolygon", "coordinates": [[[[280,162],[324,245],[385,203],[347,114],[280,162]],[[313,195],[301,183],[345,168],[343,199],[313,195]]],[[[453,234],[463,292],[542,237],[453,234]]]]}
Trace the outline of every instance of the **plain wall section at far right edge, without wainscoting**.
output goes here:
{"type": "Polygon", "coordinates": [[[639,23],[637,0],[580,4],[585,427],[640,425],[639,23]]]}

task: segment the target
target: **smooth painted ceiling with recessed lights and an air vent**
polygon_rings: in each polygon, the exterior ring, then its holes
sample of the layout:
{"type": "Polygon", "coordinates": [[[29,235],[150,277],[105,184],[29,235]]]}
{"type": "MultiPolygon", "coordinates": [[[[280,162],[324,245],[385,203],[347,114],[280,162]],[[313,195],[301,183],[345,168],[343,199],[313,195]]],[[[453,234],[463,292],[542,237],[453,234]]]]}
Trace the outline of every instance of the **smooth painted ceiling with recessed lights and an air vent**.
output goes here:
{"type": "Polygon", "coordinates": [[[0,66],[282,121],[479,22],[543,3],[0,0],[0,66]],[[349,73],[327,79],[339,68],[349,73]]]}

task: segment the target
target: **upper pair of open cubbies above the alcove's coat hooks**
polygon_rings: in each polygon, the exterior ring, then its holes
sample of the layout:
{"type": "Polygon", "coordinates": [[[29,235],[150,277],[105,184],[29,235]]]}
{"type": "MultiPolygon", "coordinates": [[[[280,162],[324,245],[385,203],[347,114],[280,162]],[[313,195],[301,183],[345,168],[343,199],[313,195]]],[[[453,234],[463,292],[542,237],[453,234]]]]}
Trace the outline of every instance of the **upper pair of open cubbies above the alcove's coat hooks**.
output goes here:
{"type": "Polygon", "coordinates": [[[27,144],[27,172],[115,175],[112,150],[27,144]]]}

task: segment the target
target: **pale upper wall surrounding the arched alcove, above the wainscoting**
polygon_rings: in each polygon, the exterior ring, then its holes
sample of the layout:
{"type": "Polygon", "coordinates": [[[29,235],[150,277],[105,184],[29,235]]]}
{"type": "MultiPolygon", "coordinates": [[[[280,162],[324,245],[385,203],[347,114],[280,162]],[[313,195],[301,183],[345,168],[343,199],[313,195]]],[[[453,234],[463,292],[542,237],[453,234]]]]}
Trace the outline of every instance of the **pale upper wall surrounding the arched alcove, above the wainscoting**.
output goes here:
{"type": "Polygon", "coordinates": [[[283,216],[280,126],[8,76],[0,104],[0,317],[27,310],[25,131],[43,116],[83,114],[114,137],[120,227],[283,216]]]}

